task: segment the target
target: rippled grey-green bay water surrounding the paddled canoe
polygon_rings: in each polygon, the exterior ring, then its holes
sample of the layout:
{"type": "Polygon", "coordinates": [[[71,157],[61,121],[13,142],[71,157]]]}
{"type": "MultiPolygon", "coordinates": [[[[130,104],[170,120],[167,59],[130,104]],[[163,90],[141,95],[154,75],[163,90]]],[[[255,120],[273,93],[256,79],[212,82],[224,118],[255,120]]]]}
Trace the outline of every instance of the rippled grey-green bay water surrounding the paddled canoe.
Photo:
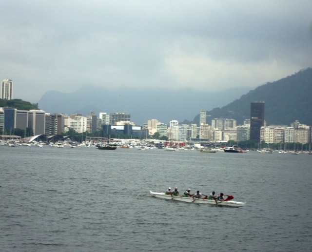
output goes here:
{"type": "Polygon", "coordinates": [[[0,146],[1,251],[309,251],[312,155],[0,146]],[[168,186],[242,208],[151,197],[168,186]]]}

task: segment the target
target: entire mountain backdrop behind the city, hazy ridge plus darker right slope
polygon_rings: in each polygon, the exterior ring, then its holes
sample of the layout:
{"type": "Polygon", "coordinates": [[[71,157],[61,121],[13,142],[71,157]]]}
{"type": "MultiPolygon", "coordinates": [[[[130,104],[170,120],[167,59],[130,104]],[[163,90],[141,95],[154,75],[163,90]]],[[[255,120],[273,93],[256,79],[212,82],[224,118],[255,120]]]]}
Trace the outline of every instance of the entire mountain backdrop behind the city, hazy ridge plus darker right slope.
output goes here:
{"type": "Polygon", "coordinates": [[[152,118],[166,124],[170,120],[198,122],[200,110],[207,110],[209,124],[216,117],[234,118],[237,124],[242,124],[250,117],[250,103],[264,101],[268,125],[289,125],[294,120],[312,125],[312,68],[249,90],[248,87],[237,87],[215,93],[190,88],[169,92],[85,86],[74,93],[48,91],[40,98],[39,108],[49,113],[85,116],[90,111],[96,115],[99,112],[127,112],[131,114],[131,120],[140,125],[152,118]]]}

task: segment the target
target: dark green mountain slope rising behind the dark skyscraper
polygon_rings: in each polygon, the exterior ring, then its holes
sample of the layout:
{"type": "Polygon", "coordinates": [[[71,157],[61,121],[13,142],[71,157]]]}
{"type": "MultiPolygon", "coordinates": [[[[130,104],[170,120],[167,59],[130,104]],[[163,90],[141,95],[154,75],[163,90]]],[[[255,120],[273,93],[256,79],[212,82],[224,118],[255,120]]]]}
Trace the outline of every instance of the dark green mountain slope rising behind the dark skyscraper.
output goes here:
{"type": "MultiPolygon", "coordinates": [[[[250,118],[250,105],[254,101],[265,102],[267,125],[289,125],[295,120],[312,125],[312,68],[268,82],[222,108],[208,111],[207,121],[210,124],[214,118],[232,118],[242,124],[250,118]]],[[[199,115],[194,121],[199,122],[199,115]]]]}

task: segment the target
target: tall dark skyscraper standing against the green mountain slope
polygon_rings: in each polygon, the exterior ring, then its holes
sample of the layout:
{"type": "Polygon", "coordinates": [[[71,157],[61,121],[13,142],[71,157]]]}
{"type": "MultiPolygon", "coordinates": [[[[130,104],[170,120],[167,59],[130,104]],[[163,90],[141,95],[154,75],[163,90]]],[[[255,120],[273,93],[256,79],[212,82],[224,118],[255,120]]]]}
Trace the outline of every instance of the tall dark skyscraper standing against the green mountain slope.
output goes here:
{"type": "Polygon", "coordinates": [[[264,126],[264,102],[252,102],[250,107],[250,140],[260,142],[260,129],[264,126]]]}

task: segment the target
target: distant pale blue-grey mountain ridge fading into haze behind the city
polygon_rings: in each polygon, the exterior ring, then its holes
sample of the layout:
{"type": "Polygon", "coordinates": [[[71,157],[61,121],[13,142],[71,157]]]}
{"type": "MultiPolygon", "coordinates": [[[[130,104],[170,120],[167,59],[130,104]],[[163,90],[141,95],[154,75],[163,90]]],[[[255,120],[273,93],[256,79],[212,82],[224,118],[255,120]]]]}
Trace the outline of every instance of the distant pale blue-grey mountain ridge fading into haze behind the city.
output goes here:
{"type": "Polygon", "coordinates": [[[224,106],[245,94],[249,87],[238,87],[222,92],[198,92],[192,89],[105,89],[85,86],[74,93],[48,91],[39,100],[39,108],[49,113],[78,113],[84,116],[93,111],[127,112],[138,125],[155,118],[168,124],[170,120],[193,120],[201,110],[224,106]]]}

